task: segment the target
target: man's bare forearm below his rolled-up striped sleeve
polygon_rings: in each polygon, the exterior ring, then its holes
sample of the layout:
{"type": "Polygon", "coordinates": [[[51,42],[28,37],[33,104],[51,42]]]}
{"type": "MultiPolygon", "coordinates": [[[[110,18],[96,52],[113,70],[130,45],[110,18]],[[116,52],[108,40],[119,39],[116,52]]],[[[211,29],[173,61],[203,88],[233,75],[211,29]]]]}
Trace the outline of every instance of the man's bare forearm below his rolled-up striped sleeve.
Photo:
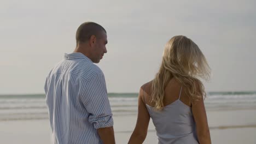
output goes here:
{"type": "Polygon", "coordinates": [[[97,129],[97,131],[98,131],[98,135],[100,135],[101,140],[103,141],[104,144],[115,143],[113,127],[99,128],[97,129]]]}

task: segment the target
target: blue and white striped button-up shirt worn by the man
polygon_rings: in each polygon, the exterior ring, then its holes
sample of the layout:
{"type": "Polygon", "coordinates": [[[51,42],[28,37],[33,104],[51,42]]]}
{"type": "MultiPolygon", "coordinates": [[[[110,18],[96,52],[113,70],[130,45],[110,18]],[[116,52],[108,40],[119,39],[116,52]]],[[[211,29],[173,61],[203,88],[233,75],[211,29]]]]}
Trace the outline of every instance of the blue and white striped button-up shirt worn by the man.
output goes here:
{"type": "Polygon", "coordinates": [[[82,53],[65,54],[44,90],[54,143],[102,143],[97,129],[112,127],[113,118],[97,65],[82,53]]]}

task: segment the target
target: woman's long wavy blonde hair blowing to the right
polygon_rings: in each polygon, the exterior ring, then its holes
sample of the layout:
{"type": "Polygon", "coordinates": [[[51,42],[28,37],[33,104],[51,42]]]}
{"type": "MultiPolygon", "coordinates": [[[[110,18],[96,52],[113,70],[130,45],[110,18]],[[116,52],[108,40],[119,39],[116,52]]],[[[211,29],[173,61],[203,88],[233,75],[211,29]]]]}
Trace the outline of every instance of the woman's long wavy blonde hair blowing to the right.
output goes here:
{"type": "Polygon", "coordinates": [[[156,110],[164,107],[165,87],[174,77],[184,88],[193,104],[206,97],[205,87],[199,78],[209,80],[211,69],[199,47],[189,38],[177,35],[165,45],[162,63],[152,81],[151,103],[156,110]]]}

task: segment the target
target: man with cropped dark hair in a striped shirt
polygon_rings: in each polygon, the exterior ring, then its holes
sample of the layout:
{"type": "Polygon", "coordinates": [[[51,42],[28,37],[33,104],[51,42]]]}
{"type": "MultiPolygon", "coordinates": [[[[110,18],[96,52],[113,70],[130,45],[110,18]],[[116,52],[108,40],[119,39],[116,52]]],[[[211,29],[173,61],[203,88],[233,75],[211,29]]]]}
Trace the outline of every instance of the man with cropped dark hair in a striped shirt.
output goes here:
{"type": "Polygon", "coordinates": [[[113,118],[104,75],[94,63],[107,53],[106,30],[85,22],[77,47],[65,54],[45,82],[54,143],[115,143],[113,118]]]}

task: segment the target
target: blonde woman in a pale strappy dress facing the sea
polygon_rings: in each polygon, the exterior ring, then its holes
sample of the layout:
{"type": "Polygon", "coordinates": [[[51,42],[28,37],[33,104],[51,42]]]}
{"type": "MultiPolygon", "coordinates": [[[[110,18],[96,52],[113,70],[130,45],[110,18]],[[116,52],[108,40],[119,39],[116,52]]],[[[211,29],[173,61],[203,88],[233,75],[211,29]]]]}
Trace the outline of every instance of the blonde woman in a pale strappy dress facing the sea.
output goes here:
{"type": "Polygon", "coordinates": [[[199,47],[182,35],[171,38],[155,79],[139,91],[137,124],[129,143],[146,139],[150,117],[159,143],[211,143],[199,77],[210,77],[199,47]]]}

